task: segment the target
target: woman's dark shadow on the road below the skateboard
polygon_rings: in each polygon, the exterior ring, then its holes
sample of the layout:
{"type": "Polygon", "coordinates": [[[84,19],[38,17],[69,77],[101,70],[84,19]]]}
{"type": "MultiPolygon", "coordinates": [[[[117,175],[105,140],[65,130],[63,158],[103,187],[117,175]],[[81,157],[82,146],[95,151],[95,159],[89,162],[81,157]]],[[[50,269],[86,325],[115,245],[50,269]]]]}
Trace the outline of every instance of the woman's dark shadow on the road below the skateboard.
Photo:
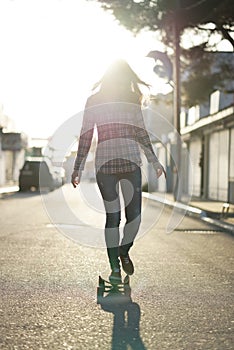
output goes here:
{"type": "Polygon", "coordinates": [[[140,337],[140,306],[131,297],[116,297],[110,292],[99,303],[102,310],[113,314],[112,350],[146,350],[140,337]]]}

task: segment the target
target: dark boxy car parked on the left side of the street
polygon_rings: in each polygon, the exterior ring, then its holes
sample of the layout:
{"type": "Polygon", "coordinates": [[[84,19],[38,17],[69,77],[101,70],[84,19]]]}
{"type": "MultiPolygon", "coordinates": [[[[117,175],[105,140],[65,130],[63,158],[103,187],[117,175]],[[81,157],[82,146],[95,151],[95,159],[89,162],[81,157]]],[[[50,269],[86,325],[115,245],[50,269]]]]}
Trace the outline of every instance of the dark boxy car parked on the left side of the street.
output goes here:
{"type": "Polygon", "coordinates": [[[20,191],[50,190],[64,184],[64,169],[54,167],[49,159],[41,157],[27,158],[19,175],[20,191]]]}

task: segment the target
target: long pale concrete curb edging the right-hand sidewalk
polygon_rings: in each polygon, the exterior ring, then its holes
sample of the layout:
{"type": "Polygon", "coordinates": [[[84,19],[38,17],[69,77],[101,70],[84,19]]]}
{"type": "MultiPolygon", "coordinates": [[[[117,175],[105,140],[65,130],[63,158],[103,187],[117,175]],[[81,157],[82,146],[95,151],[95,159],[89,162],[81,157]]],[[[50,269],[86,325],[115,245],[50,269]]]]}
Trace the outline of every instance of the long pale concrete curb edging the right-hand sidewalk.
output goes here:
{"type": "Polygon", "coordinates": [[[156,202],[160,202],[162,204],[166,204],[171,208],[175,208],[179,211],[184,211],[185,215],[194,216],[202,221],[207,222],[210,225],[213,225],[215,227],[218,227],[219,229],[222,229],[222,231],[225,231],[234,235],[234,225],[209,217],[209,212],[205,210],[201,210],[199,208],[186,205],[181,202],[172,202],[166,198],[162,198],[160,196],[156,196],[154,194],[147,193],[147,192],[143,192],[142,195],[145,198],[151,199],[156,202]]]}

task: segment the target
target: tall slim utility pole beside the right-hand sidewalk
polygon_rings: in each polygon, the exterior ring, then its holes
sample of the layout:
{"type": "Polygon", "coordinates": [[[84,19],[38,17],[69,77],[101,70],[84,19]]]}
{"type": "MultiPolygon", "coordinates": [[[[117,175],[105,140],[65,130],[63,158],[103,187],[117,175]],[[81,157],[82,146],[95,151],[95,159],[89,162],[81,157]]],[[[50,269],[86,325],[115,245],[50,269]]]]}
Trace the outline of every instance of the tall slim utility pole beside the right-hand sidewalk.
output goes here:
{"type": "Polygon", "coordinates": [[[175,173],[176,183],[174,184],[174,199],[181,200],[181,138],[180,138],[180,110],[181,110],[181,91],[180,91],[180,23],[179,23],[180,0],[176,2],[176,9],[174,14],[174,60],[173,60],[173,80],[174,80],[174,95],[173,95],[173,109],[174,109],[174,127],[176,132],[176,159],[175,159],[175,173]]]}

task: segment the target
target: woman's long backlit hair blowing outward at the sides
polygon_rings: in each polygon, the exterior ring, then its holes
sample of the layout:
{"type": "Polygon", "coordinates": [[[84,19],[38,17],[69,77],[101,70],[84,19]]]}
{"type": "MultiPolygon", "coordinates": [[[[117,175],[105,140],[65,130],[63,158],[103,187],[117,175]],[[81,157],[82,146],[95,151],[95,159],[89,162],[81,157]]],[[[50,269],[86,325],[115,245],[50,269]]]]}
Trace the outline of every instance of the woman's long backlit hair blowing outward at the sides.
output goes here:
{"type": "Polygon", "coordinates": [[[149,84],[142,81],[125,60],[117,60],[94,85],[93,90],[99,87],[101,93],[111,97],[124,93],[126,99],[134,93],[139,103],[142,103],[143,94],[139,84],[149,87],[149,84]]]}

